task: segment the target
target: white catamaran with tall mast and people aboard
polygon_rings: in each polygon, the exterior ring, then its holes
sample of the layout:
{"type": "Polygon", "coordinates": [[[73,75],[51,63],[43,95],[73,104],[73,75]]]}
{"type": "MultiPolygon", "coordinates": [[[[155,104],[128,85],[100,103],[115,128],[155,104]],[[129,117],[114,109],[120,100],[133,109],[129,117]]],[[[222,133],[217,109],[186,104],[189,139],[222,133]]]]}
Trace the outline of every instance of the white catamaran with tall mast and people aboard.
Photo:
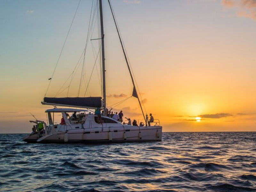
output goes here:
{"type": "MultiPolygon", "coordinates": [[[[80,3],[80,2],[79,2],[80,3]]],[[[113,8],[108,0],[110,10],[114,19],[116,30],[119,36],[119,40],[123,49],[124,58],[129,69],[129,73],[132,79],[133,91],[132,96],[138,99],[140,108],[143,115],[142,124],[131,125],[127,123],[121,123],[107,115],[102,115],[99,118],[92,113],[93,109],[102,109],[104,112],[107,109],[106,104],[106,81],[105,81],[105,53],[104,53],[104,28],[103,28],[103,14],[102,14],[102,0],[97,0],[97,6],[99,6],[100,14],[100,41],[101,46],[101,64],[102,64],[102,97],[45,97],[41,102],[43,105],[52,105],[54,108],[47,109],[45,111],[47,115],[47,123],[37,120],[30,121],[35,123],[33,131],[23,138],[27,142],[63,142],[63,143],[100,143],[100,142],[136,142],[136,141],[161,141],[162,140],[162,126],[160,121],[155,119],[154,121],[148,120],[148,115],[144,114],[139,99],[134,79],[132,76],[131,68],[127,60],[127,55],[124,49],[123,41],[120,36],[119,28],[116,23],[116,18],[113,13],[113,8]],[[57,108],[66,107],[66,108],[57,108]],[[76,114],[69,116],[68,113],[76,114]],[[54,121],[61,114],[63,122],[57,124],[54,121]]],[[[79,4],[78,4],[79,5],[79,4]]],[[[54,73],[54,72],[53,72],[54,73]]],[[[49,79],[50,83],[52,78],[49,79]]],[[[49,84],[50,85],[50,84],[49,84]]],[[[49,86],[48,86],[49,88],[49,86]]],[[[47,89],[48,90],[48,89],[47,89]]],[[[47,92],[47,91],[46,91],[47,92]]],[[[46,93],[45,93],[46,95],[46,93]]],[[[79,95],[79,94],[78,94],[79,95]]],[[[131,97],[132,97],[131,96],[131,97]]]]}

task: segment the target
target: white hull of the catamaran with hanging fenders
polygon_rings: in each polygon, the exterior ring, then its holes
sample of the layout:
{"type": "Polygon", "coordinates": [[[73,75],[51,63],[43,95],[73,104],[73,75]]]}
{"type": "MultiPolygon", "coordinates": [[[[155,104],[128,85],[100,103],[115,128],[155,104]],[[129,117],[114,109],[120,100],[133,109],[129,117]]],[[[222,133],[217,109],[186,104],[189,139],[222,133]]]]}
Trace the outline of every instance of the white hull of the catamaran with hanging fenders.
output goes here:
{"type": "Polygon", "coordinates": [[[66,143],[91,143],[91,142],[140,142],[161,141],[162,127],[112,127],[112,128],[88,128],[68,130],[45,135],[36,140],[36,134],[24,138],[27,142],[66,142],[66,143]],[[158,132],[158,133],[157,133],[158,132]],[[65,134],[68,140],[65,140],[65,134]],[[126,135],[126,137],[125,137],[126,135]],[[66,136],[67,137],[67,136],[66,136]]]}

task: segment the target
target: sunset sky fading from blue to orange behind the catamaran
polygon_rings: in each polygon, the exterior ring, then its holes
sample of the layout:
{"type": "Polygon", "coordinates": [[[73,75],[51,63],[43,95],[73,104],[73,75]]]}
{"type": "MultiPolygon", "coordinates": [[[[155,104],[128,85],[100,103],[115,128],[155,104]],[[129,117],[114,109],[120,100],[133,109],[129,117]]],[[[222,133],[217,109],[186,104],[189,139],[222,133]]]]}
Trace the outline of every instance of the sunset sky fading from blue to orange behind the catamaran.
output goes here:
{"type": "MultiPolygon", "coordinates": [[[[41,101],[78,2],[0,1],[0,133],[30,132],[29,112],[46,121],[52,106],[41,101]]],[[[146,112],[163,131],[256,130],[256,0],[111,2],[146,112]]],[[[91,7],[81,0],[46,96],[55,96],[83,53],[91,7]]],[[[110,106],[132,95],[132,81],[106,0],[103,15],[110,106]]],[[[91,37],[98,38],[97,23],[91,37]]],[[[98,43],[89,40],[87,79],[98,43]]],[[[96,66],[85,96],[101,96],[96,66]]],[[[70,97],[78,94],[81,71],[82,65],[70,97]]],[[[79,96],[85,89],[82,84],[79,96]]],[[[58,95],[66,96],[67,90],[58,95]]],[[[120,110],[142,120],[136,98],[114,108],[120,110]]]]}

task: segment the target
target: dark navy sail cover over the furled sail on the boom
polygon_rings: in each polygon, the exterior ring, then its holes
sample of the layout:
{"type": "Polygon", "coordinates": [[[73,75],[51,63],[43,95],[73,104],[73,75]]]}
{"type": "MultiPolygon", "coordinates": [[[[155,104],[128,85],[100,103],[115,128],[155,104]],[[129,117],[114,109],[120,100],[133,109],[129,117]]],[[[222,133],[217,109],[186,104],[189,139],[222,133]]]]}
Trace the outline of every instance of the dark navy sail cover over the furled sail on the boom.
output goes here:
{"type": "Polygon", "coordinates": [[[42,103],[80,108],[98,108],[101,107],[101,97],[44,97],[44,102],[42,103]]]}

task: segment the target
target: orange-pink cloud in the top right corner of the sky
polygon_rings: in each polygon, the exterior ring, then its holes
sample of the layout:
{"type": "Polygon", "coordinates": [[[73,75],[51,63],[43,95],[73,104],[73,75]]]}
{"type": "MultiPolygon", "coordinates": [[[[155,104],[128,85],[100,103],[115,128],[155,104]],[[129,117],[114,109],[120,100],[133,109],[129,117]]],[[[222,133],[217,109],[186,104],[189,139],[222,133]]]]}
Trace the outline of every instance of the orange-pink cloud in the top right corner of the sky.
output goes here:
{"type": "Polygon", "coordinates": [[[222,0],[226,8],[236,8],[238,17],[248,17],[256,20],[256,0],[222,0]]]}

